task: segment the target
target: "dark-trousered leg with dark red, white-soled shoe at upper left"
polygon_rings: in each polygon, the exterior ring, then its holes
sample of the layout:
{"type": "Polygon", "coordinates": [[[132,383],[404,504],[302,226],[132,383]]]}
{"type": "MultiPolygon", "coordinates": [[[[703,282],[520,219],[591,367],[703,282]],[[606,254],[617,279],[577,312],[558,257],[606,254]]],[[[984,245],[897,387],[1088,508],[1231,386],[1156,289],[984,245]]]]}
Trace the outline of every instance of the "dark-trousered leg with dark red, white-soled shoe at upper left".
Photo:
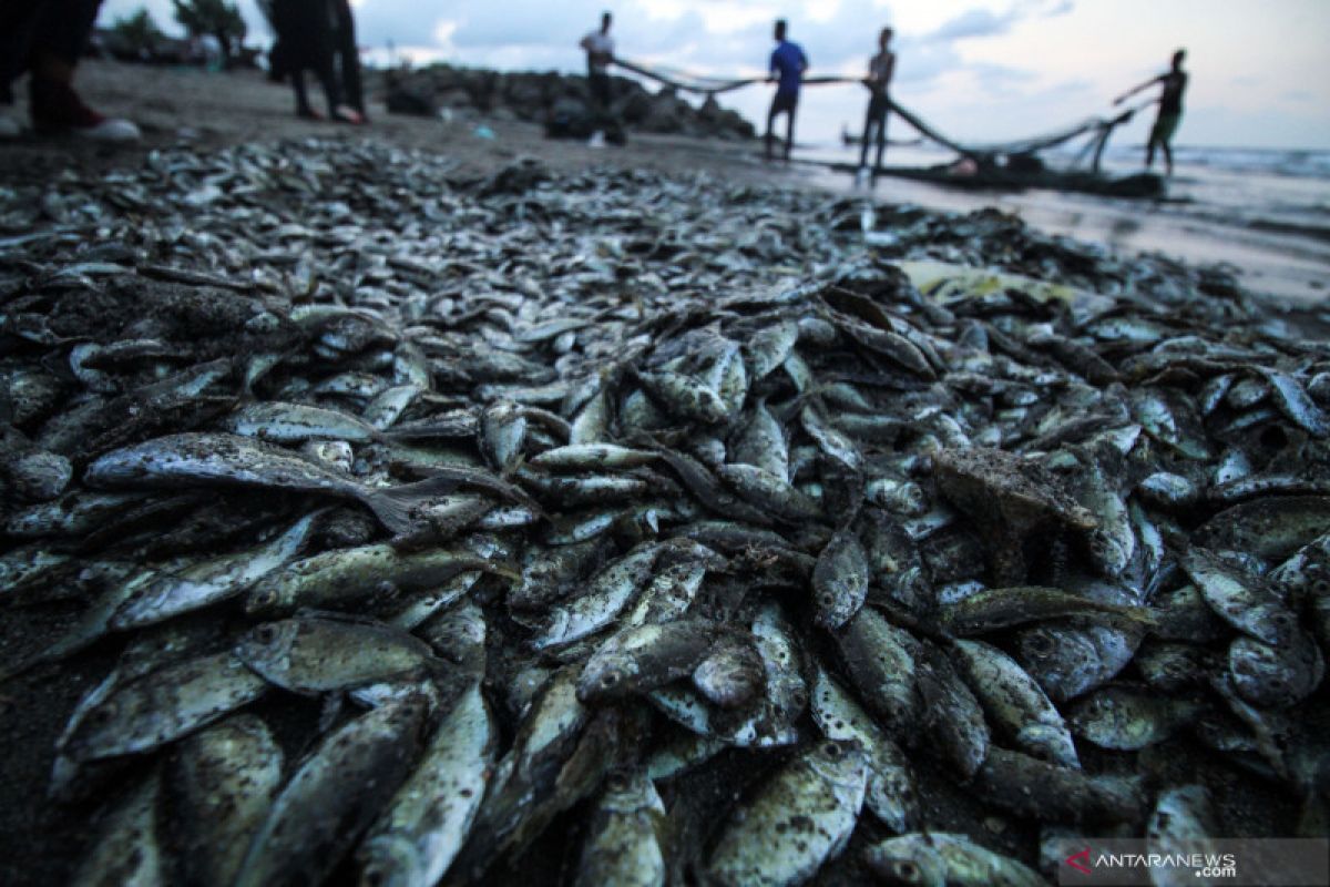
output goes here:
{"type": "Polygon", "coordinates": [[[74,68],[88,48],[101,0],[47,0],[32,33],[28,90],[33,126],[105,141],[133,141],[138,128],[98,114],[73,88],[74,68]]]}

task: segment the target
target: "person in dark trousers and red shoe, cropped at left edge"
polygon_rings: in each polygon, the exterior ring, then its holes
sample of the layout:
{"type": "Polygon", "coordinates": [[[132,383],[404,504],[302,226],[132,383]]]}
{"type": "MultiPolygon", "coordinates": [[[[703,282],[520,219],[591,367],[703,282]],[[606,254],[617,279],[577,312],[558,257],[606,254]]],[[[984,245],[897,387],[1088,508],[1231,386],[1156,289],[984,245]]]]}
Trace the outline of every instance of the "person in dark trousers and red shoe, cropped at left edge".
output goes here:
{"type": "MultiPolygon", "coordinates": [[[[28,80],[28,113],[40,134],[74,134],[98,141],[134,141],[138,128],[104,117],[74,92],[78,59],[97,21],[101,0],[4,0],[0,3],[0,106],[13,101],[13,82],[28,80]]],[[[19,136],[17,121],[0,108],[0,138],[19,136]]]]}

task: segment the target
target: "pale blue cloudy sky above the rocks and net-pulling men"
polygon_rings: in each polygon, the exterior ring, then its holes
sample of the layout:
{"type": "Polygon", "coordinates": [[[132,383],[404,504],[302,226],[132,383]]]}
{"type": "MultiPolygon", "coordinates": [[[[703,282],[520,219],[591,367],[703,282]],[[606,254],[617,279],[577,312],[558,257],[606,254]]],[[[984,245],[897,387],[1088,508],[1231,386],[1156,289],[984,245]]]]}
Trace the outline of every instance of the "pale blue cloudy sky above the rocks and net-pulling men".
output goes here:
{"type": "MultiPolygon", "coordinates": [[[[146,5],[176,29],[170,0],[106,0],[101,24],[146,5]]],[[[239,0],[250,43],[270,40],[255,0],[239,0]]],[[[617,53],[710,76],[754,76],[785,17],[810,74],[862,76],[883,25],[895,28],[892,97],[959,141],[1061,129],[1112,110],[1115,96],[1188,49],[1192,76],[1176,142],[1330,149],[1330,0],[352,0],[359,44],[382,60],[501,70],[585,70],[577,43],[614,13],[617,53]]],[[[722,104],[765,121],[770,86],[722,104]]],[[[809,86],[801,141],[858,130],[859,85],[809,86]]],[[[1144,142],[1137,114],[1115,144],[1144,142]]],[[[892,136],[902,124],[892,125],[892,136]]]]}

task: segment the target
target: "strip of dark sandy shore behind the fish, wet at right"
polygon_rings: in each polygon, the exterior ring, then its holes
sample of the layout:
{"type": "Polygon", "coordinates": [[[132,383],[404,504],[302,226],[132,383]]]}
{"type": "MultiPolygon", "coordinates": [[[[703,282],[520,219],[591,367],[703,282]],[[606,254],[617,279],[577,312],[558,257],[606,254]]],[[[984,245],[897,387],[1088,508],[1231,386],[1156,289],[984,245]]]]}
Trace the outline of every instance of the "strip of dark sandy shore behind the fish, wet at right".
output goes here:
{"type": "MultiPolygon", "coordinates": [[[[371,100],[372,125],[351,129],[294,117],[286,86],[261,72],[206,74],[88,63],[80,86],[106,113],[137,121],[145,133],[134,146],[90,146],[73,141],[24,138],[0,148],[0,182],[53,176],[66,168],[116,169],[137,165],[149,152],[180,144],[200,148],[249,141],[372,136],[404,148],[434,150],[452,158],[462,174],[484,176],[519,156],[540,157],[559,172],[597,165],[660,172],[706,170],[726,181],[766,182],[838,194],[871,195],[880,202],[908,202],[928,209],[970,211],[996,206],[1051,234],[1067,234],[1124,253],[1162,253],[1193,263],[1225,263],[1256,293],[1299,301],[1326,298],[1330,243],[1302,233],[1260,231],[1240,225],[1202,222],[1170,213],[1166,203],[1025,191],[986,194],[950,190],[903,180],[883,180],[872,191],[817,165],[770,165],[755,145],[698,141],[670,136],[634,136],[626,148],[591,149],[551,141],[540,128],[513,120],[458,113],[451,121],[390,116],[371,100]],[[492,132],[492,138],[476,133],[492,132]]],[[[21,90],[20,90],[21,92],[21,90]]],[[[19,113],[25,116],[20,105],[19,113]]]]}

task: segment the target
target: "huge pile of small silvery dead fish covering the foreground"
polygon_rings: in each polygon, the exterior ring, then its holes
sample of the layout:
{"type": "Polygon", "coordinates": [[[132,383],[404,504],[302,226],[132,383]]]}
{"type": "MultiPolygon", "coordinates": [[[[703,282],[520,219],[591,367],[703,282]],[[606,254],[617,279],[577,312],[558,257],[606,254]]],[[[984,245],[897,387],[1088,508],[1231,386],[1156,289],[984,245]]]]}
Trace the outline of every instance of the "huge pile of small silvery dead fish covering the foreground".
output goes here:
{"type": "Polygon", "coordinates": [[[7,830],[80,843],[23,871],[1036,884],[1323,834],[1330,347],[862,210],[372,142],[0,193],[8,730],[77,698],[7,830]]]}

